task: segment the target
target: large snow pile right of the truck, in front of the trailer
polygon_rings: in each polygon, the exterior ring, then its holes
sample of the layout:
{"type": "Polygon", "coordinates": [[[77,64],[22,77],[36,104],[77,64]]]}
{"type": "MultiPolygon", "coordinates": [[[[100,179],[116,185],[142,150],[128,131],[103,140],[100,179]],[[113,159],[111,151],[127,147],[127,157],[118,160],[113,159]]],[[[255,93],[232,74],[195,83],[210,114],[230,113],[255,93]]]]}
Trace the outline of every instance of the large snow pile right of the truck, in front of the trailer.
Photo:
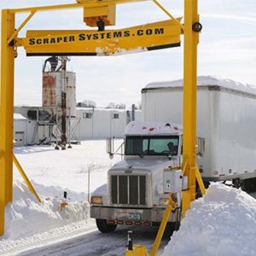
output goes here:
{"type": "Polygon", "coordinates": [[[212,183],[195,201],[163,256],[256,255],[256,200],[245,192],[212,183]]]}

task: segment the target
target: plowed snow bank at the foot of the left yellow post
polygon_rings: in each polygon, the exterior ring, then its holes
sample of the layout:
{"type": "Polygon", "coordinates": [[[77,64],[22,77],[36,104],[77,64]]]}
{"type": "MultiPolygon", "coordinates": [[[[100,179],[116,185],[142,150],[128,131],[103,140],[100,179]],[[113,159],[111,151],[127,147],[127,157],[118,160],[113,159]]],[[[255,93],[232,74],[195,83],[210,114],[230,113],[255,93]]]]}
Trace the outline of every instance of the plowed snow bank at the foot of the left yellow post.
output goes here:
{"type": "Polygon", "coordinates": [[[14,201],[5,209],[5,234],[0,240],[0,254],[13,252],[15,247],[24,244],[45,241],[53,235],[71,233],[80,229],[80,222],[89,224],[90,206],[87,201],[67,199],[67,207],[61,210],[64,199],[53,195],[40,195],[39,203],[26,184],[15,179],[14,201]]]}

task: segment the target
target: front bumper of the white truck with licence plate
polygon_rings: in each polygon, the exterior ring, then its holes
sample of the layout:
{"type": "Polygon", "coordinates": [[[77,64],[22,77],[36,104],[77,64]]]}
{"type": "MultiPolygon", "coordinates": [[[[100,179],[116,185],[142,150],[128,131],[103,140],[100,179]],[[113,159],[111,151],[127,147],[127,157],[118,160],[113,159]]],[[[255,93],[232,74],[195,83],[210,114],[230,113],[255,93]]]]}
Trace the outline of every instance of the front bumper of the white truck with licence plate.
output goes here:
{"type": "MultiPolygon", "coordinates": [[[[100,207],[90,206],[90,218],[100,218],[107,220],[134,220],[141,222],[160,222],[163,217],[165,208],[117,208],[117,207],[100,207]]],[[[180,221],[180,209],[171,212],[168,222],[180,221]]]]}

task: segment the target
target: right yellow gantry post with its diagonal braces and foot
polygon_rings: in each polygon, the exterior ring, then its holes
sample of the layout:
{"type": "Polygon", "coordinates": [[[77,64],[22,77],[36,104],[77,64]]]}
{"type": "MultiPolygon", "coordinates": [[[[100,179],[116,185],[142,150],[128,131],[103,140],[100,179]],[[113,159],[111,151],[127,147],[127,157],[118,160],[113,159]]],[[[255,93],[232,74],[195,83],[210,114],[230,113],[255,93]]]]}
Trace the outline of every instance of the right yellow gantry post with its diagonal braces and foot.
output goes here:
{"type": "MultiPolygon", "coordinates": [[[[182,218],[189,209],[190,203],[195,201],[195,181],[197,181],[201,189],[201,194],[205,195],[204,183],[202,182],[201,174],[196,165],[196,79],[199,32],[193,30],[195,22],[199,22],[197,0],[184,0],[182,170],[183,175],[189,178],[189,188],[183,191],[182,218]]],[[[164,212],[150,256],[155,256],[158,251],[168,218],[173,208],[172,197],[169,195],[169,203],[164,212]]],[[[144,256],[148,255],[148,252],[145,247],[135,247],[133,253],[126,251],[126,255],[144,256]]]]}

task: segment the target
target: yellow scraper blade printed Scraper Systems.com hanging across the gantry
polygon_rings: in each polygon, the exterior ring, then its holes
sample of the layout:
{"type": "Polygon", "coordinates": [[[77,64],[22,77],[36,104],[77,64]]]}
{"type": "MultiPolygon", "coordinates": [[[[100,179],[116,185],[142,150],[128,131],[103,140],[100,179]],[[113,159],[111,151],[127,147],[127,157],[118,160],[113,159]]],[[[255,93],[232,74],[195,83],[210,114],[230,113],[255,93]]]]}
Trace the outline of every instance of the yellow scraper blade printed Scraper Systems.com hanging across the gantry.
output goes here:
{"type": "MultiPolygon", "coordinates": [[[[180,20],[180,19],[178,19],[180,20]]],[[[173,20],[119,30],[27,31],[17,40],[26,55],[112,55],[180,46],[182,30],[173,20]]]]}

